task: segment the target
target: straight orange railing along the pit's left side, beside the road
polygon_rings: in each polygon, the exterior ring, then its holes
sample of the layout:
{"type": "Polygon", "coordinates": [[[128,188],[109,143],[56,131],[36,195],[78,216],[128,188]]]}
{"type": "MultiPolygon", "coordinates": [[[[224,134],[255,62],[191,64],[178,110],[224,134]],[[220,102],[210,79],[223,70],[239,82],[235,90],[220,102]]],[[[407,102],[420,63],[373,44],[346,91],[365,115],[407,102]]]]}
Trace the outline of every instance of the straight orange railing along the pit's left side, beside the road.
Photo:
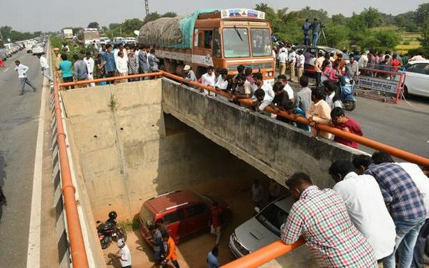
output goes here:
{"type": "Polygon", "coordinates": [[[61,192],[64,197],[64,206],[66,208],[66,219],[68,228],[68,237],[70,239],[70,253],[75,268],[87,268],[88,258],[86,257],[84,237],[80,225],[79,214],[77,212],[77,202],[75,199],[75,186],[73,186],[70,165],[67,155],[66,134],[64,133],[63,121],[61,119],[61,105],[59,101],[59,89],[54,72],[54,103],[55,118],[57,119],[57,140],[59,151],[59,163],[61,169],[61,192]]]}

